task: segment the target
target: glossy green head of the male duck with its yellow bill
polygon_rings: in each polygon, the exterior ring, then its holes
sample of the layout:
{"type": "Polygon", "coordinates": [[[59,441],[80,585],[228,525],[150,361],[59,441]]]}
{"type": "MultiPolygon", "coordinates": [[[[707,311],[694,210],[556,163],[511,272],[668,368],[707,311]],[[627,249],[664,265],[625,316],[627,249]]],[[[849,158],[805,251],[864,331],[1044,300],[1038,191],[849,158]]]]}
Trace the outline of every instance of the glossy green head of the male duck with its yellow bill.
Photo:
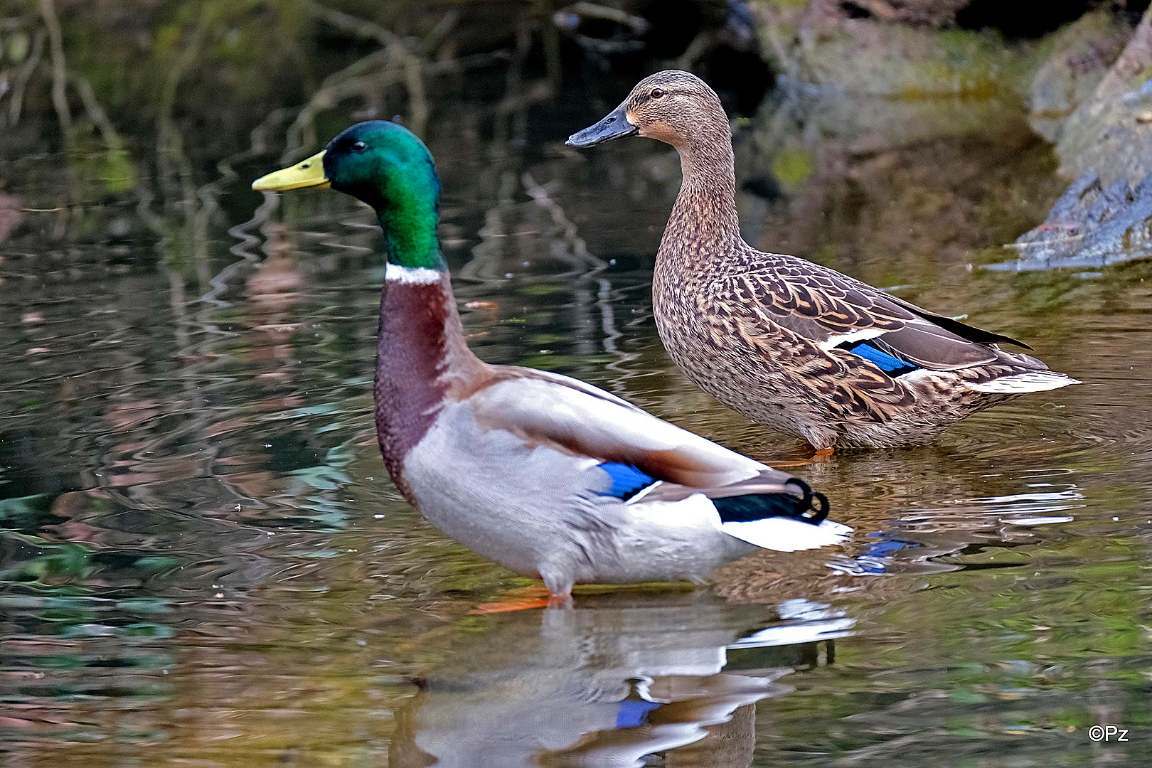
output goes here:
{"type": "Polygon", "coordinates": [[[445,268],[435,237],[440,177],[424,142],[407,128],[385,120],[356,123],[323,152],[252,182],[258,190],[305,187],[331,187],[376,208],[389,263],[445,268]]]}

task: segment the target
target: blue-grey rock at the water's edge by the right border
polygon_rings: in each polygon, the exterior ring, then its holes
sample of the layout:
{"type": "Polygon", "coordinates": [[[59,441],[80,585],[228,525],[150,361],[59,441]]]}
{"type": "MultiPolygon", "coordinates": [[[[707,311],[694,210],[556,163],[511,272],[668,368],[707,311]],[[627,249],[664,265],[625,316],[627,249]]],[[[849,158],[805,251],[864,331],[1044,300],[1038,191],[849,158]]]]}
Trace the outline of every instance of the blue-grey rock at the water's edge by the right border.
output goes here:
{"type": "Polygon", "coordinates": [[[1021,258],[985,268],[1102,267],[1152,256],[1152,174],[1136,189],[1123,178],[1105,188],[1099,174],[1084,174],[1060,196],[1044,223],[1014,245],[1021,258]]]}

